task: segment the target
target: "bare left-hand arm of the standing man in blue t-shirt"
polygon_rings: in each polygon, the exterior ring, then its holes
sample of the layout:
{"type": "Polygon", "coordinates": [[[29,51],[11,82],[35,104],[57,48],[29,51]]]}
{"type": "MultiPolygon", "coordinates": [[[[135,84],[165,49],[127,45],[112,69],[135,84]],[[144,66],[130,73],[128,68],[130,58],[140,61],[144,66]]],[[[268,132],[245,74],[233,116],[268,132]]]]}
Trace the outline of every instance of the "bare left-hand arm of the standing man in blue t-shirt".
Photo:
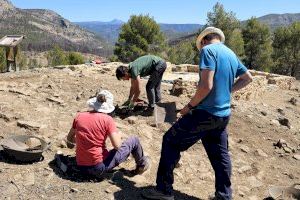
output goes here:
{"type": "Polygon", "coordinates": [[[214,75],[215,71],[209,69],[201,71],[201,81],[197,87],[197,91],[190,102],[180,111],[181,115],[187,114],[191,107],[197,106],[209,94],[214,85],[214,75]]]}

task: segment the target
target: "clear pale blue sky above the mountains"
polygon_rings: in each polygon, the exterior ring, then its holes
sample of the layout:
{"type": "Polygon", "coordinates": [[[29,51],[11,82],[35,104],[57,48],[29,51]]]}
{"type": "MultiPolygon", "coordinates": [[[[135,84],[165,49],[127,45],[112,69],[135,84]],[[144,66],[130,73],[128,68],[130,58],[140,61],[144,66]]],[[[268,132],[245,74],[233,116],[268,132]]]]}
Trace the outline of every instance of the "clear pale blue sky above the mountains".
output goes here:
{"type": "Polygon", "coordinates": [[[72,22],[126,22],[149,14],[158,23],[205,24],[207,12],[220,2],[239,20],[267,14],[300,13],[300,0],[10,0],[18,8],[50,9],[72,22]]]}

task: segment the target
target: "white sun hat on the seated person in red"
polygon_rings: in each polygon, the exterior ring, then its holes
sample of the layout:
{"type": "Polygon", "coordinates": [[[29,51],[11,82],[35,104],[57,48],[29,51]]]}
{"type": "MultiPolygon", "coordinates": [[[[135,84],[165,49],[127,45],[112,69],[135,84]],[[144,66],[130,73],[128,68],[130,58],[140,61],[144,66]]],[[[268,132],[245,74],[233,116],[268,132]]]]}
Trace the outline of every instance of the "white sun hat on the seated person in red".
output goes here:
{"type": "Polygon", "coordinates": [[[111,113],[115,110],[114,96],[108,90],[100,91],[96,97],[87,101],[90,108],[101,113],[111,113]]]}

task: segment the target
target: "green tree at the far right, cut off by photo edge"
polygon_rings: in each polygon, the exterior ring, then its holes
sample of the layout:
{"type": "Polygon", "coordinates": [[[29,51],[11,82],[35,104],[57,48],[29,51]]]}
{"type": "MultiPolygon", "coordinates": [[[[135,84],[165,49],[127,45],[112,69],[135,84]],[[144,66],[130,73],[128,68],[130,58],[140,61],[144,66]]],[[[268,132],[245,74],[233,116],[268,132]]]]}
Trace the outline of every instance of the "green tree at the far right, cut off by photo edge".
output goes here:
{"type": "Polygon", "coordinates": [[[300,74],[300,22],[274,32],[272,72],[296,76],[300,74]]]}

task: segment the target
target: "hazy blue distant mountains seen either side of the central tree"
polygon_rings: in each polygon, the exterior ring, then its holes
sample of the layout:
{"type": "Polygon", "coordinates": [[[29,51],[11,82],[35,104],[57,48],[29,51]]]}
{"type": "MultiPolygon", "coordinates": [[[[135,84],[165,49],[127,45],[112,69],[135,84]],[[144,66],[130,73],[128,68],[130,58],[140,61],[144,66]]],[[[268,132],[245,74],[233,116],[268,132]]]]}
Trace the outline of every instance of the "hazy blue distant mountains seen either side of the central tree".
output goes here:
{"type": "MultiPolygon", "coordinates": [[[[121,26],[124,24],[121,20],[114,19],[110,22],[74,22],[75,24],[94,32],[103,37],[109,43],[114,44],[119,36],[121,26]]],[[[161,30],[165,33],[167,39],[172,40],[190,33],[196,32],[200,24],[160,24],[161,30]]]]}

